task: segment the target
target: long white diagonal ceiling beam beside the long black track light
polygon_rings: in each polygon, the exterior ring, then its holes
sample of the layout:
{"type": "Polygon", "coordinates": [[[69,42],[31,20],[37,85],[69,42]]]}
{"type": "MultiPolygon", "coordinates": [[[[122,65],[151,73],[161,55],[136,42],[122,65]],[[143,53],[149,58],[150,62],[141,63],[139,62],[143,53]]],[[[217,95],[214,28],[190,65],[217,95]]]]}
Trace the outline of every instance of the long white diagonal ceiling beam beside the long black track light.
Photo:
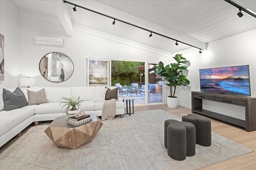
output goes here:
{"type": "Polygon", "coordinates": [[[130,14],[122,12],[120,10],[116,10],[114,8],[111,8],[104,4],[98,3],[96,1],[80,1],[80,0],[67,0],[67,1],[71,2],[73,4],[77,4],[79,6],[82,6],[84,8],[94,10],[101,14],[105,14],[106,16],[116,18],[116,20],[122,20],[127,23],[131,23],[132,25],[136,25],[138,27],[142,27],[142,28],[151,30],[152,32],[158,33],[160,35],[164,35],[166,37],[171,37],[172,39],[175,39],[182,43],[194,46],[198,49],[204,49],[204,50],[207,49],[206,43],[204,43],[202,41],[198,41],[192,37],[188,37],[184,34],[178,33],[176,31],[173,31],[166,27],[162,27],[162,26],[152,23],[150,21],[146,21],[146,20],[143,20],[136,16],[132,16],[130,14]]]}

